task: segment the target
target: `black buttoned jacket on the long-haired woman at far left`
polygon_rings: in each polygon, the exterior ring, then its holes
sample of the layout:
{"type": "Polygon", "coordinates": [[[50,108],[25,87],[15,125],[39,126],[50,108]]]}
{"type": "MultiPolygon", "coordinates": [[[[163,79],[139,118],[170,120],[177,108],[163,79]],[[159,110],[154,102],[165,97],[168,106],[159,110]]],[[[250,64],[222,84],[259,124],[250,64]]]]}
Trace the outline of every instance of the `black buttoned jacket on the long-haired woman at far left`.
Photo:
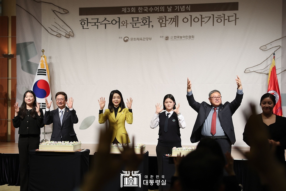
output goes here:
{"type": "Polygon", "coordinates": [[[29,116],[29,112],[27,112],[25,118],[21,120],[20,116],[17,115],[13,118],[13,126],[15,128],[19,127],[18,134],[21,135],[40,135],[41,134],[41,128],[44,127],[43,122],[43,110],[40,108],[41,115],[36,115],[36,118],[32,118],[29,116]]]}

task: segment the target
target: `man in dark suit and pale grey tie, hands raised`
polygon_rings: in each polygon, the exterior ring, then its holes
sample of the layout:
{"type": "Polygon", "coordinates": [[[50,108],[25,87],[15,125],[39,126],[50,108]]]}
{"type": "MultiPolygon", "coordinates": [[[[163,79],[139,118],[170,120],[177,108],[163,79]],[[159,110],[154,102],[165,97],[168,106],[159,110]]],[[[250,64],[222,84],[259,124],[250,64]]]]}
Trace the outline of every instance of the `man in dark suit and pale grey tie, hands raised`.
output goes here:
{"type": "Polygon", "coordinates": [[[77,114],[72,107],[73,98],[69,98],[64,92],[56,93],[57,109],[50,111],[52,101],[46,100],[46,112],[44,115],[44,124],[53,123],[53,132],[51,141],[78,141],[77,134],[74,132],[74,124],[78,122],[77,114]],[[66,107],[67,105],[67,107],[66,107]]]}

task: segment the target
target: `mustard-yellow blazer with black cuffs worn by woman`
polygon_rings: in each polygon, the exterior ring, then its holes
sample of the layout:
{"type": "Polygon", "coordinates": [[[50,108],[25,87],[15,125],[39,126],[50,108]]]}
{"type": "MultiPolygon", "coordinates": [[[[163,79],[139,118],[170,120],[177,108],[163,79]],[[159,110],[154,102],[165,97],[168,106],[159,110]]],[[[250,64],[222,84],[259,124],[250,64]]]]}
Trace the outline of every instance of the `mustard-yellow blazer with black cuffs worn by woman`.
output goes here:
{"type": "Polygon", "coordinates": [[[130,143],[128,133],[125,129],[125,121],[128,124],[133,123],[133,114],[129,112],[128,108],[124,108],[119,112],[121,108],[118,109],[118,113],[115,118],[114,112],[110,112],[109,109],[106,109],[104,113],[99,114],[98,122],[100,124],[105,123],[106,120],[109,122],[109,129],[113,131],[111,143],[116,137],[119,143],[130,143]],[[127,135],[127,139],[126,139],[127,135]]]}

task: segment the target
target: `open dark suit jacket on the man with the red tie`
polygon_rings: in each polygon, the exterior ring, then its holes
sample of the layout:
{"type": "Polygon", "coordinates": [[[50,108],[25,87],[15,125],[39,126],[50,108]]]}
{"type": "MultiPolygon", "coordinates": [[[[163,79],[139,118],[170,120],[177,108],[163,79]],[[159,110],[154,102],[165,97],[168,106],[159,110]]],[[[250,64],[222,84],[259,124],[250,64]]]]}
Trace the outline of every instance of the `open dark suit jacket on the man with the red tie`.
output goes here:
{"type": "MultiPolygon", "coordinates": [[[[240,106],[242,98],[243,94],[237,93],[235,99],[231,103],[226,102],[225,104],[221,104],[218,108],[218,118],[220,119],[221,127],[223,128],[226,135],[229,137],[231,144],[234,144],[236,141],[234,135],[234,127],[232,123],[232,115],[240,106]]],[[[196,112],[198,112],[198,116],[190,138],[191,142],[195,143],[200,141],[202,137],[203,123],[209,115],[209,112],[212,109],[212,105],[204,101],[202,103],[196,102],[193,94],[191,96],[187,96],[187,100],[189,102],[189,105],[196,112]]]]}

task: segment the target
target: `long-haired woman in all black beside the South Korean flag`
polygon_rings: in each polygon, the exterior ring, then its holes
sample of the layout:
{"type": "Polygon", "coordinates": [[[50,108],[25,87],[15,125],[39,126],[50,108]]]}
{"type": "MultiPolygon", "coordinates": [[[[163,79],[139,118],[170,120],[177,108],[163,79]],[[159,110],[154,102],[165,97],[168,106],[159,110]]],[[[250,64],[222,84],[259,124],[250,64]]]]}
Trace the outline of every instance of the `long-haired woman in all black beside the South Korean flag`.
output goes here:
{"type": "Polygon", "coordinates": [[[44,127],[43,110],[36,101],[35,93],[25,92],[23,103],[18,107],[15,103],[13,125],[19,128],[20,190],[28,190],[29,186],[29,150],[39,148],[41,127],[44,127]]]}

